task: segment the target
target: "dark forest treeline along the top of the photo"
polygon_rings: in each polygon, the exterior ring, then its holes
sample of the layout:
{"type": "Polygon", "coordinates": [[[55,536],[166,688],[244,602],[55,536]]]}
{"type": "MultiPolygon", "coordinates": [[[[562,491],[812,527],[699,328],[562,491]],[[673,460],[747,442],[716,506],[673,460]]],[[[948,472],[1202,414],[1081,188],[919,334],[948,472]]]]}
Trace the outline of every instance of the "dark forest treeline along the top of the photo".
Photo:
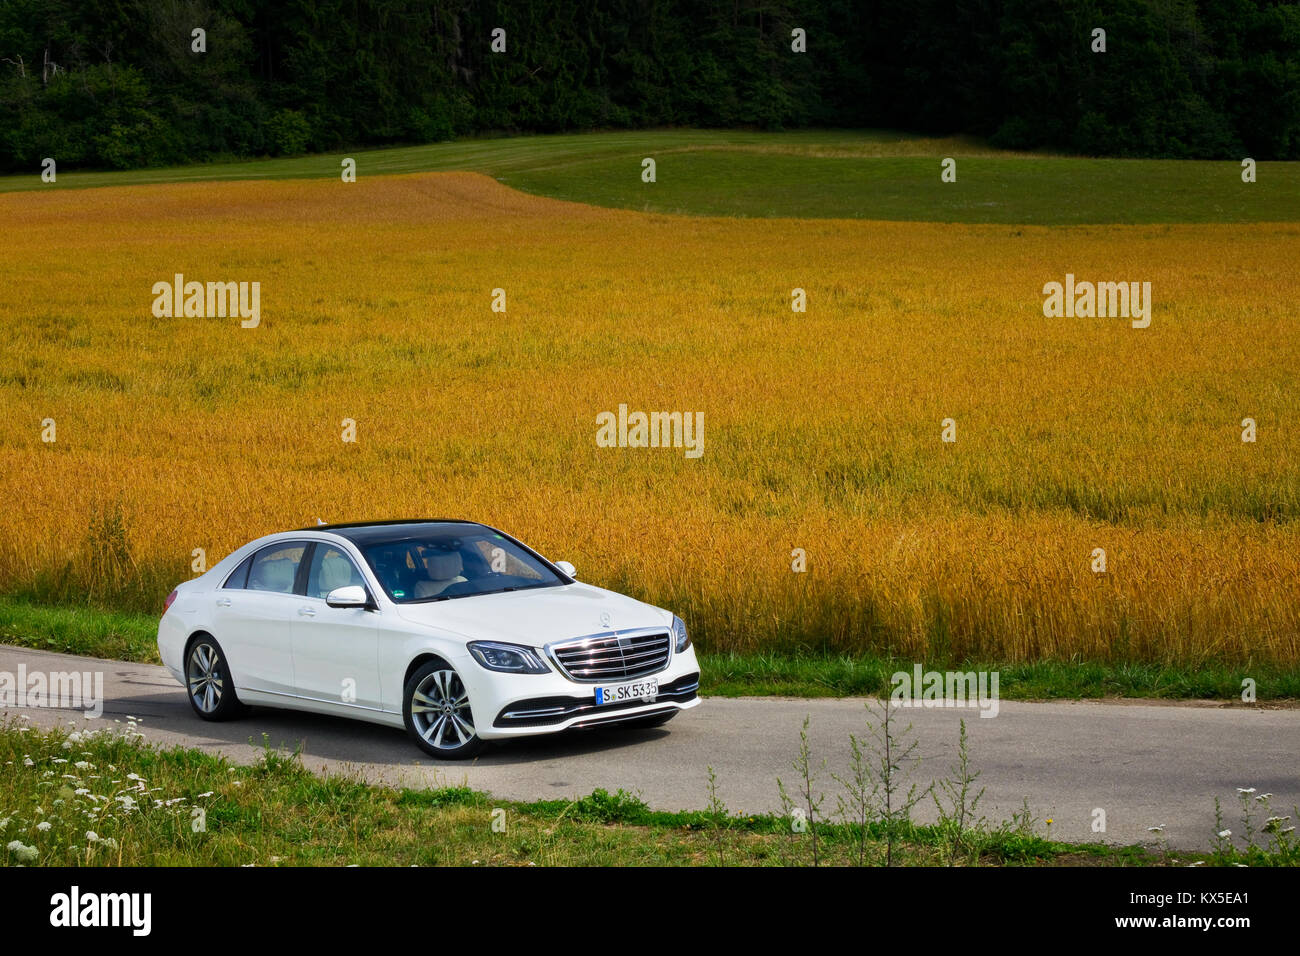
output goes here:
{"type": "Polygon", "coordinates": [[[1297,49],[1269,0],[0,0],[0,168],[675,125],[1297,159],[1297,49]]]}

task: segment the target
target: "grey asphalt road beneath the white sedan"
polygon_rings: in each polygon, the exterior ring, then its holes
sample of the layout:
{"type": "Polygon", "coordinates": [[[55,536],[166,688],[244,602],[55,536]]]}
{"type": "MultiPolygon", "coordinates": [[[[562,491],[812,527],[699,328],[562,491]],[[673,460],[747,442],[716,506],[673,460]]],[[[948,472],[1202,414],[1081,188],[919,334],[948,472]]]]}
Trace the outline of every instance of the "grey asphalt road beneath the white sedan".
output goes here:
{"type": "MultiPolygon", "coordinates": [[[[516,740],[490,748],[471,763],[424,757],[399,730],[292,711],[256,709],[230,723],[208,723],[191,711],[165,669],[100,661],[0,645],[0,671],[103,671],[104,713],[4,708],[0,717],[27,714],[30,723],[100,726],[138,718],[140,731],[161,744],[183,744],[250,762],[272,745],[302,745],[307,766],[359,773],[390,784],[468,784],[506,800],[571,797],[598,787],[638,792],[656,809],[701,809],[707,804],[707,767],[719,796],[733,812],[780,808],[777,778],[790,787],[800,727],[811,717],[814,762],[826,760],[819,780],[833,809],[845,775],[849,735],[866,735],[863,698],[706,698],[660,728],[586,731],[516,740]]],[[[1110,843],[1162,843],[1205,848],[1213,839],[1214,797],[1226,826],[1240,832],[1238,788],[1271,792],[1275,813],[1300,817],[1300,710],[1153,702],[1002,701],[998,715],[975,710],[906,709],[922,756],[922,786],[946,775],[956,756],[958,721],[966,718],[972,767],[985,787],[980,812],[1010,818],[1027,799],[1053,838],[1110,843]],[[1095,809],[1105,810],[1105,832],[1093,832],[1095,809]],[[1164,825],[1162,834],[1148,827],[1164,825]]],[[[4,790],[0,778],[0,791],[4,790]]],[[[928,819],[932,805],[916,814],[928,819]]],[[[1292,819],[1295,822],[1295,819],[1292,819]]],[[[1044,827],[1040,825],[1040,830],[1044,827]]]]}

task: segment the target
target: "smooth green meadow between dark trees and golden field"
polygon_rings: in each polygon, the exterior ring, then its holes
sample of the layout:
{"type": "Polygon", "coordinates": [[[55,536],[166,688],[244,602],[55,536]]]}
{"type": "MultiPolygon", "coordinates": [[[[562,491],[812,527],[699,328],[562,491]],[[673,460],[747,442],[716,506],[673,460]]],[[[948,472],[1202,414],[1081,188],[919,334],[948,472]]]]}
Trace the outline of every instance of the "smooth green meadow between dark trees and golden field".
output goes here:
{"type": "Polygon", "coordinates": [[[942,222],[1104,224],[1300,220],[1300,163],[1265,163],[1242,182],[1239,160],[1098,160],[1013,155],[966,139],[871,130],[647,130],[467,139],[292,159],[173,169],[39,170],[0,177],[0,193],[204,179],[339,177],[474,170],[526,193],[697,216],[876,219],[942,222]],[[654,157],[658,181],[641,181],[654,157]],[[940,159],[957,182],[940,182],[940,159]]]}

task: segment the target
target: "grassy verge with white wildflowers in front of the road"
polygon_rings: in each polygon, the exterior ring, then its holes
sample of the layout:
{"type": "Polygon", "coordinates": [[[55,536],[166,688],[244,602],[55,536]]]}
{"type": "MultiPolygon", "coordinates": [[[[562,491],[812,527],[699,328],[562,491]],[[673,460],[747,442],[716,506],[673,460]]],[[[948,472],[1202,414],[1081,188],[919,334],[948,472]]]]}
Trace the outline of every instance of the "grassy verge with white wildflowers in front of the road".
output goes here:
{"type": "MultiPolygon", "coordinates": [[[[0,724],[0,862],[47,866],[801,865],[810,831],[774,816],[660,813],[636,795],[508,803],[467,787],[394,790],[306,770],[268,749],[251,766],[144,744],[134,731],[66,732],[0,724]],[[494,823],[497,826],[494,827],[494,823]]],[[[701,782],[703,788],[706,782],[701,782]]],[[[775,787],[775,782],[774,782],[775,787]]],[[[819,861],[881,858],[880,823],[819,822],[819,861]]],[[[902,822],[896,864],[935,865],[937,826],[902,822]]],[[[1227,862],[1204,853],[1065,844],[1030,814],[965,834],[963,865],[1227,862]]],[[[1244,857],[1243,857],[1244,858],[1244,857]]],[[[1271,853],[1252,862],[1286,862],[1271,853]]]]}

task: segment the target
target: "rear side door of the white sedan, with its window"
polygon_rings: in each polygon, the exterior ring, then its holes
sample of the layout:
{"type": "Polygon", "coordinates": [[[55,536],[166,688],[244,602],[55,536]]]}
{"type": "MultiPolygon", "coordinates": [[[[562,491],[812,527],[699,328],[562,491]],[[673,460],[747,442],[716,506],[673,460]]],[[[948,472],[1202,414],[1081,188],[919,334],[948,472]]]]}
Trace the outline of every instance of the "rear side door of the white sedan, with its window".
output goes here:
{"type": "Polygon", "coordinates": [[[239,689],[294,693],[291,626],[302,601],[295,585],[307,545],[266,545],[247,567],[240,564],[216,594],[213,631],[239,689]]]}

